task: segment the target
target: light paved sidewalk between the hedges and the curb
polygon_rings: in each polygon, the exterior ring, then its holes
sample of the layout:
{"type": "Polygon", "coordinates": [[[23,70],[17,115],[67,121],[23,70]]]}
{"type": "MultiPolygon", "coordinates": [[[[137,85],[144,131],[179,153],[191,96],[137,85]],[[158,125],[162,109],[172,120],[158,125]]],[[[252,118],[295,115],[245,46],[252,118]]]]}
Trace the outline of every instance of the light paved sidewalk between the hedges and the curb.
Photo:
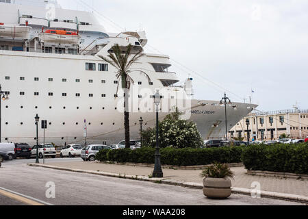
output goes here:
{"type": "MultiPolygon", "coordinates": [[[[47,166],[49,166],[47,164],[47,166]]],[[[102,164],[99,162],[58,162],[52,163],[50,166],[59,168],[69,168],[74,170],[90,170],[93,172],[109,172],[114,175],[131,175],[144,176],[149,178],[153,172],[153,167],[144,166],[128,166],[120,164],[102,164]]],[[[185,182],[185,184],[192,184],[196,188],[202,188],[202,177],[200,176],[202,170],[175,170],[170,168],[163,168],[164,181],[168,179],[172,181],[185,182]]],[[[298,196],[306,196],[305,200],[308,200],[308,180],[305,179],[283,179],[277,177],[263,177],[255,175],[247,175],[244,166],[231,167],[231,170],[235,173],[234,180],[232,180],[232,187],[239,191],[249,191],[252,187],[252,183],[257,182],[260,185],[259,190],[265,191],[269,196],[289,196],[296,199],[298,196]],[[274,193],[272,193],[274,192],[274,193]],[[279,194],[275,193],[279,192],[279,194]],[[294,195],[294,197],[292,197],[294,195]]],[[[261,194],[262,195],[262,194],[261,194]]]]}

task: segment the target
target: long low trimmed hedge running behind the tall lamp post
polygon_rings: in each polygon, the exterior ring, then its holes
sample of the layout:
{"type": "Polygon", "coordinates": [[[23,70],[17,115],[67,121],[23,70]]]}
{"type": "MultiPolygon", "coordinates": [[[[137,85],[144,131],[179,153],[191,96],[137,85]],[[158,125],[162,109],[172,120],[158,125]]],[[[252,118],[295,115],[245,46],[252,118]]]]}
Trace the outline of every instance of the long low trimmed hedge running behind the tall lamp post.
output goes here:
{"type": "MultiPolygon", "coordinates": [[[[214,162],[218,163],[238,163],[241,162],[242,151],[244,146],[231,146],[209,149],[159,149],[161,153],[161,163],[175,166],[194,166],[206,165],[214,162]]],[[[144,147],[141,149],[119,149],[119,150],[102,150],[97,153],[96,159],[101,162],[131,162],[154,164],[155,149],[144,147]]]]}

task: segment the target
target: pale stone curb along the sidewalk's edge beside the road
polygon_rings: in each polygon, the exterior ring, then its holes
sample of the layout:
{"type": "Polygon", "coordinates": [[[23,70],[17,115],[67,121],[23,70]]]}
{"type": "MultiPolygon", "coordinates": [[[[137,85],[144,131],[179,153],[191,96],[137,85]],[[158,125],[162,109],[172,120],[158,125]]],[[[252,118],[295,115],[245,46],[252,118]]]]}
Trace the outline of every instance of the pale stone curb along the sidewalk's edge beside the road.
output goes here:
{"type": "MultiPolygon", "coordinates": [[[[70,172],[82,172],[82,173],[88,173],[93,175],[101,175],[106,177],[117,177],[117,178],[123,178],[123,179],[133,179],[133,180],[141,180],[141,181],[149,181],[152,183],[162,183],[167,185],[178,185],[183,186],[187,188],[194,188],[194,189],[202,189],[203,183],[193,183],[193,182],[183,182],[183,181],[175,181],[172,179],[166,179],[166,178],[149,178],[145,176],[133,176],[133,175],[125,175],[125,174],[116,174],[112,172],[99,172],[94,170],[80,170],[80,169],[71,169],[71,168],[63,168],[59,166],[51,166],[46,164],[27,164],[27,166],[37,166],[37,167],[43,167],[43,168],[51,168],[55,170],[66,170],[70,172]]],[[[252,196],[256,192],[251,189],[247,188],[236,188],[231,187],[233,194],[244,194],[248,196],[252,196]]],[[[281,199],[285,201],[295,201],[299,203],[305,203],[308,205],[308,196],[300,196],[296,194],[286,194],[281,192],[268,192],[268,191],[259,191],[259,195],[262,198],[273,198],[273,199],[281,199]]]]}

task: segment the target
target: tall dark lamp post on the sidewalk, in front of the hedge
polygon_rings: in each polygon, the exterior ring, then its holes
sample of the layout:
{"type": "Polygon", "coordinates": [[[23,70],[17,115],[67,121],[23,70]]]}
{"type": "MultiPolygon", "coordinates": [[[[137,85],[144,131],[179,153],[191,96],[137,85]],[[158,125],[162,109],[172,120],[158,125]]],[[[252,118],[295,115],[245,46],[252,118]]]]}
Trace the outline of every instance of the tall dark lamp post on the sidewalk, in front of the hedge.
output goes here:
{"type": "Polygon", "coordinates": [[[153,170],[153,177],[155,178],[161,178],[163,177],[162,172],[162,166],[160,164],[160,153],[159,153],[159,138],[158,138],[158,112],[159,112],[159,104],[162,98],[164,96],[161,96],[158,92],[158,90],[155,92],[153,96],[151,96],[154,99],[154,103],[156,105],[156,146],[155,146],[155,166],[153,170]]]}

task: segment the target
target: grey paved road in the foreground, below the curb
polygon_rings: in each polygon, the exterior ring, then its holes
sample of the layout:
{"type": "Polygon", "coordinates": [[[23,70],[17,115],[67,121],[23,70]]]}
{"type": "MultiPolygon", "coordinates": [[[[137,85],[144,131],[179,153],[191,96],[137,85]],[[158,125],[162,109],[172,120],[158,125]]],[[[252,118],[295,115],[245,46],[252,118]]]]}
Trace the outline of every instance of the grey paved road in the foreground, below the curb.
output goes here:
{"type": "MultiPolygon", "coordinates": [[[[48,162],[73,159],[55,158],[48,162]]],[[[238,194],[232,194],[227,200],[211,200],[203,195],[202,190],[31,167],[26,165],[28,162],[34,160],[18,159],[3,163],[0,187],[53,205],[300,205],[238,194]],[[55,198],[46,197],[48,188],[45,185],[50,181],[55,183],[55,198]]],[[[0,205],[5,204],[8,202],[0,198],[0,205]]]]}

